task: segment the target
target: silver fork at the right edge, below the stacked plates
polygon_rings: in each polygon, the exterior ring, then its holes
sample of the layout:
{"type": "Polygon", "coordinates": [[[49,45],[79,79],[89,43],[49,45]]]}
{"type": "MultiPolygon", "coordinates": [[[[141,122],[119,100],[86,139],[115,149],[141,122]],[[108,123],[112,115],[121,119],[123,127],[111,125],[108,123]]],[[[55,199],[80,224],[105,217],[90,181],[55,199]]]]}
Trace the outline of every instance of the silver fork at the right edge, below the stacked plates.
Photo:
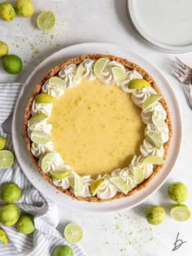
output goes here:
{"type": "Polygon", "coordinates": [[[175,59],[172,61],[170,70],[182,84],[189,86],[187,103],[192,110],[192,68],[182,63],[177,57],[175,59]]]}

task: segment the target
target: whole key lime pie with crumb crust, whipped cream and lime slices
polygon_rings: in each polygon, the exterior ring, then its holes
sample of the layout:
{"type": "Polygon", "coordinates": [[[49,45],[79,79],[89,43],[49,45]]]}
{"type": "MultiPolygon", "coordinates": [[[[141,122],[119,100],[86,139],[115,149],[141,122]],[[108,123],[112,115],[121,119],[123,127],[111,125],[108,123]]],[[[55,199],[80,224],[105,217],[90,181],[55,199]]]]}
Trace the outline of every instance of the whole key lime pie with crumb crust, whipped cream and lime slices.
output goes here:
{"type": "Polygon", "coordinates": [[[52,68],[33,90],[24,129],[47,182],[81,201],[111,201],[146,187],[168,155],[168,105],[152,77],[113,55],[52,68]]]}

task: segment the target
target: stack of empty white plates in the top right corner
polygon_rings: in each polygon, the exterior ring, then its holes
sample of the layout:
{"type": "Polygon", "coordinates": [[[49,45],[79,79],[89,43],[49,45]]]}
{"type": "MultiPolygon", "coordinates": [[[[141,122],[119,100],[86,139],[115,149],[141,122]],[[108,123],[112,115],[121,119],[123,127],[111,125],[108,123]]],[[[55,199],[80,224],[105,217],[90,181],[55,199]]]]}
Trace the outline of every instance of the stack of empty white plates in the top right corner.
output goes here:
{"type": "Polygon", "coordinates": [[[133,29],[161,51],[192,51],[192,0],[127,0],[133,29]]]}

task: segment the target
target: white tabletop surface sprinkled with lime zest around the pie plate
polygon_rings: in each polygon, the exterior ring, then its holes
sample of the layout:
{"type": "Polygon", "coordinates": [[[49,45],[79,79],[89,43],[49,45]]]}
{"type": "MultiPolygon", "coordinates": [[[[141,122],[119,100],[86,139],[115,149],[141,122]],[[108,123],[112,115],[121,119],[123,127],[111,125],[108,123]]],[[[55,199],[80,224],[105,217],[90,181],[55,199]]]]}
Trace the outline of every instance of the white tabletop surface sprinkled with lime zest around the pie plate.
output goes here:
{"type": "MultiPolygon", "coordinates": [[[[24,71],[19,77],[7,75],[0,64],[0,82],[24,82],[33,67],[65,46],[79,42],[112,42],[137,52],[164,73],[177,94],[183,117],[181,154],[172,175],[155,195],[133,210],[114,214],[72,212],[63,205],[63,208],[59,207],[59,230],[63,230],[65,223],[79,223],[85,231],[81,245],[89,256],[190,256],[192,220],[177,223],[167,214],[165,222],[154,227],[146,223],[143,217],[145,207],[149,204],[164,205],[168,213],[171,202],[168,200],[167,188],[172,181],[184,182],[190,188],[190,197],[186,203],[192,208],[192,112],[185,101],[185,86],[181,86],[168,72],[174,55],[155,50],[133,32],[127,20],[124,0],[41,0],[33,3],[36,13],[45,9],[55,11],[58,25],[50,33],[41,33],[33,25],[37,15],[32,19],[16,18],[11,23],[0,21],[0,40],[9,44],[11,53],[26,60],[24,71]],[[187,242],[172,252],[177,232],[187,242]]],[[[192,66],[192,52],[179,57],[192,66]]]]}

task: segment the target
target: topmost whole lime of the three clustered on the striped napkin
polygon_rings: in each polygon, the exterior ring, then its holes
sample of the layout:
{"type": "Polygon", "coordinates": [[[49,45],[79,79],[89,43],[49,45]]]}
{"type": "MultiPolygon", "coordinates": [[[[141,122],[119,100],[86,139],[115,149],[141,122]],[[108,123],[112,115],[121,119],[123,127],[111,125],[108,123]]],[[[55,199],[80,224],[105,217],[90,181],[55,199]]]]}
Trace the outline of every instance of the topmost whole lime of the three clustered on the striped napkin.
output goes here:
{"type": "Polygon", "coordinates": [[[22,192],[15,183],[4,183],[0,188],[0,197],[7,204],[15,203],[20,199],[22,192]]]}

